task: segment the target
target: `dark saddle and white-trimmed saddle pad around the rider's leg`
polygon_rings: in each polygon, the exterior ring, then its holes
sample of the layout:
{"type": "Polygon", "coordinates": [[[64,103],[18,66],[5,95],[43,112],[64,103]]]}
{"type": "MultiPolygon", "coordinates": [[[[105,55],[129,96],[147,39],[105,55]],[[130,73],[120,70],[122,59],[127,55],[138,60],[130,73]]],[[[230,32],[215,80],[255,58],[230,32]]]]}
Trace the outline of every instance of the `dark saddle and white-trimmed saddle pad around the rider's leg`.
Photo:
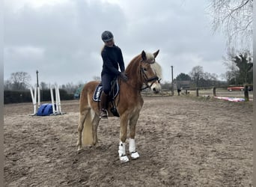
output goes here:
{"type": "MultiPolygon", "coordinates": [[[[119,91],[120,91],[120,86],[118,84],[118,79],[116,78],[111,82],[111,91],[109,92],[109,102],[112,103],[112,108],[110,108],[110,111],[116,117],[120,117],[120,115],[118,114],[118,110],[116,108],[115,102],[114,102],[115,97],[118,96],[119,91]]],[[[100,102],[100,96],[101,96],[102,92],[103,92],[103,85],[100,82],[100,84],[97,85],[97,87],[95,88],[95,91],[94,91],[93,100],[95,102],[100,102]]]]}

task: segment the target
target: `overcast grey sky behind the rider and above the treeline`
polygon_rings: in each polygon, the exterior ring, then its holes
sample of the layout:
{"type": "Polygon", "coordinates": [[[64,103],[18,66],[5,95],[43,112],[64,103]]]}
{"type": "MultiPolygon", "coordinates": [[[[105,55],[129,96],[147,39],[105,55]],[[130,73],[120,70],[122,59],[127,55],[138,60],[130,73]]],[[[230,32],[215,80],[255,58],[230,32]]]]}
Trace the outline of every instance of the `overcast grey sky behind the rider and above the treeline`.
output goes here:
{"type": "Polygon", "coordinates": [[[124,61],[160,50],[163,82],[201,66],[225,73],[225,37],[213,34],[201,0],[7,0],[4,1],[4,80],[23,71],[39,82],[88,82],[100,76],[100,38],[112,31],[124,61]]]}

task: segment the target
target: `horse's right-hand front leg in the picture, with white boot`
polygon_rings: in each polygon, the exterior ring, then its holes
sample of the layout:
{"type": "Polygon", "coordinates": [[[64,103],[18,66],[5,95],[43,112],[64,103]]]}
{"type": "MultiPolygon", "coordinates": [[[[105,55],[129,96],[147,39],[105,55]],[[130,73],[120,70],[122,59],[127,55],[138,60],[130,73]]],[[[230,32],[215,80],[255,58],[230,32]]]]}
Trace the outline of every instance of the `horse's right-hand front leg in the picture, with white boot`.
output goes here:
{"type": "Polygon", "coordinates": [[[129,154],[132,159],[138,159],[139,155],[135,147],[135,127],[138,121],[139,112],[129,120],[129,154]]]}

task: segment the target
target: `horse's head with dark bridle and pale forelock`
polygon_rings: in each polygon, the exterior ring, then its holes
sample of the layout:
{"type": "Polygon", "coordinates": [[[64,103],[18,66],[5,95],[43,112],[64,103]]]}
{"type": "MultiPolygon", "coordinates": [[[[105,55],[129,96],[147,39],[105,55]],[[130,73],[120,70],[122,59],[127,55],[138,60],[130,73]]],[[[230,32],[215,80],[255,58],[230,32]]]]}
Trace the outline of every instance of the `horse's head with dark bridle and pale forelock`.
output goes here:
{"type": "Polygon", "coordinates": [[[161,90],[160,79],[162,78],[162,70],[156,62],[158,53],[159,50],[153,54],[141,52],[141,76],[143,77],[143,83],[154,93],[159,93],[161,90]]]}

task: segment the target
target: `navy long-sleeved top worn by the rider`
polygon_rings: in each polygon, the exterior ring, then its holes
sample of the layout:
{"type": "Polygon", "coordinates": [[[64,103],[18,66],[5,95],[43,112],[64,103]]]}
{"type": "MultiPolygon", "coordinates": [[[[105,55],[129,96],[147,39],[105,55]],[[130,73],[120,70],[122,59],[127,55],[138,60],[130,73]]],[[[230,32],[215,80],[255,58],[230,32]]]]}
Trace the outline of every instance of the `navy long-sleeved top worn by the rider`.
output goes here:
{"type": "Polygon", "coordinates": [[[118,46],[104,46],[101,57],[103,58],[103,70],[101,75],[108,73],[113,76],[118,76],[121,72],[124,72],[124,58],[121,49],[118,46]],[[118,66],[120,71],[118,71],[118,66]]]}

